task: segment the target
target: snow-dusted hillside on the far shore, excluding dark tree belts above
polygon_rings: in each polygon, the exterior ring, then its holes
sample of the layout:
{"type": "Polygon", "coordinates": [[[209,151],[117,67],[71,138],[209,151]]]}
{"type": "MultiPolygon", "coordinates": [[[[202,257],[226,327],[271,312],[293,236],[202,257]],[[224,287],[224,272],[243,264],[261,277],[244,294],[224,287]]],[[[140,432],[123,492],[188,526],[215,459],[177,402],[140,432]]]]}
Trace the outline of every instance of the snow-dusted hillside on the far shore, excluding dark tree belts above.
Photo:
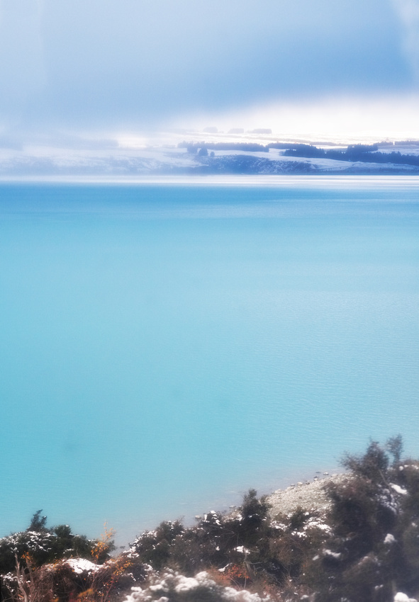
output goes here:
{"type": "MultiPolygon", "coordinates": [[[[392,152],[385,147],[382,152],[392,152]]],[[[418,154],[419,148],[401,152],[418,154]]],[[[0,178],[133,177],[223,174],[419,174],[419,167],[326,158],[285,157],[281,149],[269,152],[212,150],[208,155],[176,145],[74,149],[28,146],[0,149],[0,178]]]]}

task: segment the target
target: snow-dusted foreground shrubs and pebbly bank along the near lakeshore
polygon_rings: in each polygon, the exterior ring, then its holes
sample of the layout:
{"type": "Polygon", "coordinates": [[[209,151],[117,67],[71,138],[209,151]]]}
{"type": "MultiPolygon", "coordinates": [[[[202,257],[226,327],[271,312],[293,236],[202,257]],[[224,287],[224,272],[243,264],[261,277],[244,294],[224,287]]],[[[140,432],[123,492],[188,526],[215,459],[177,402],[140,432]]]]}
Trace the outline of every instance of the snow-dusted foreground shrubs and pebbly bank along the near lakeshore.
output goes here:
{"type": "Polygon", "coordinates": [[[115,552],[49,527],[42,511],[0,539],[6,602],[408,602],[419,598],[419,460],[401,436],[321,475],[194,526],[164,521],[115,552]]]}

